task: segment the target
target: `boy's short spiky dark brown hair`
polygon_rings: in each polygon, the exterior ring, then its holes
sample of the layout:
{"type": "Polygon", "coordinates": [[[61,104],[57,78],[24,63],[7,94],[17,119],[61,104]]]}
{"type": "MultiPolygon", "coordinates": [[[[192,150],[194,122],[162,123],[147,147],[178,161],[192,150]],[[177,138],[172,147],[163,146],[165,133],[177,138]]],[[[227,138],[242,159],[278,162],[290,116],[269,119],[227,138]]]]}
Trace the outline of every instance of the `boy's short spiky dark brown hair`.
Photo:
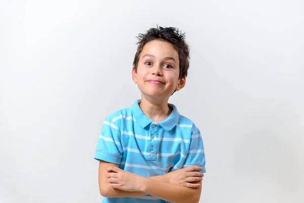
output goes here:
{"type": "Polygon", "coordinates": [[[140,53],[145,44],[153,40],[161,40],[169,42],[176,49],[179,57],[179,79],[187,76],[189,69],[189,46],[185,42],[185,33],[182,33],[175,27],[161,27],[150,28],[146,33],[140,33],[137,37],[138,45],[137,51],[134,57],[133,65],[135,67],[135,72],[137,72],[137,65],[140,53]]]}

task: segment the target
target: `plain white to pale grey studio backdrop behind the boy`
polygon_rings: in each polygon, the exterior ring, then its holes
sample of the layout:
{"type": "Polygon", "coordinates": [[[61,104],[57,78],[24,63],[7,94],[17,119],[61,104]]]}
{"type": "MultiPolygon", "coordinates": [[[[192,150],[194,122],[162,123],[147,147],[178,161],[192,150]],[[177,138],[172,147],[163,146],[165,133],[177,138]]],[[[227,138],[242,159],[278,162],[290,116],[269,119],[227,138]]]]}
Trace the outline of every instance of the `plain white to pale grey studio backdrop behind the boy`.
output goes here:
{"type": "Polygon", "coordinates": [[[0,202],[101,202],[103,120],[140,97],[138,33],[186,32],[169,100],[202,132],[200,202],[303,202],[304,2],[1,1],[0,202]]]}

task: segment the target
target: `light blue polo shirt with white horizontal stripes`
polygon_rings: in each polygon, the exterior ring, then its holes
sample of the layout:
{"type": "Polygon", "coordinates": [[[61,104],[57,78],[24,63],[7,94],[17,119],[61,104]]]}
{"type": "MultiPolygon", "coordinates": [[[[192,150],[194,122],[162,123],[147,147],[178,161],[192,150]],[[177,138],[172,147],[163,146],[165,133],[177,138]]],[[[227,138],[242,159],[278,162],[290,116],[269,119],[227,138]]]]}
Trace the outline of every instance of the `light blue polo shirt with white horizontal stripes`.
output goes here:
{"type": "MultiPolygon", "coordinates": [[[[117,110],[103,122],[95,156],[119,164],[125,171],[143,176],[159,176],[189,165],[199,165],[206,172],[204,145],[200,130],[176,107],[169,117],[154,122],[140,109],[140,99],[131,108],[117,110]]],[[[102,202],[166,202],[151,195],[103,198],[102,202]]]]}

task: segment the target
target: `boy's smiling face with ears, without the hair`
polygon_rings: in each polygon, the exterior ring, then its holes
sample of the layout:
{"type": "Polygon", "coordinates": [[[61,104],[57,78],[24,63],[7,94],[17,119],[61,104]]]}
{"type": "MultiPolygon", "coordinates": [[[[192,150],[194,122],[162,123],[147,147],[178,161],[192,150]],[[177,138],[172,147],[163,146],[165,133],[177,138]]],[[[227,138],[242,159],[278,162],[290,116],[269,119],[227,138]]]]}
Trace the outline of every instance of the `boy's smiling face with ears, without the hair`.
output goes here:
{"type": "Polygon", "coordinates": [[[169,98],[174,90],[185,85],[185,77],[179,77],[179,57],[173,45],[153,40],[144,45],[138,60],[137,73],[132,78],[141,93],[148,97],[169,98]]]}

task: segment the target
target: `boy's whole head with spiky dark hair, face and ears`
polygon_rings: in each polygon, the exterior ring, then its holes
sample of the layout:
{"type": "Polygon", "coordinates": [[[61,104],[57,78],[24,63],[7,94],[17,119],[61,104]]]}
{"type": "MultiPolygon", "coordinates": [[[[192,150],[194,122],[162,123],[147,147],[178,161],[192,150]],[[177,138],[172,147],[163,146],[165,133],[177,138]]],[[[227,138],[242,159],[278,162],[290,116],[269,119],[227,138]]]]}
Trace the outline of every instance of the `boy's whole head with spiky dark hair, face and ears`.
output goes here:
{"type": "Polygon", "coordinates": [[[189,47],[178,28],[150,28],[138,36],[132,77],[143,94],[168,97],[185,85],[189,47]]]}

